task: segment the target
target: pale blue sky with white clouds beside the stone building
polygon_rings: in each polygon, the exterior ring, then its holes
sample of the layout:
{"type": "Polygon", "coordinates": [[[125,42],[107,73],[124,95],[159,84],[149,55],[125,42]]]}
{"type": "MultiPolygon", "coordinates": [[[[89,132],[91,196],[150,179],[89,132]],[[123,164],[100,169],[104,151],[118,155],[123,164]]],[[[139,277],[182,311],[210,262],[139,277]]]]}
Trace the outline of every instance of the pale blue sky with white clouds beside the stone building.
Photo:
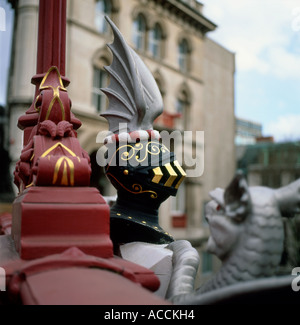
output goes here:
{"type": "Polygon", "coordinates": [[[236,55],[236,116],[300,139],[300,0],[201,0],[207,36],[236,55]]]}

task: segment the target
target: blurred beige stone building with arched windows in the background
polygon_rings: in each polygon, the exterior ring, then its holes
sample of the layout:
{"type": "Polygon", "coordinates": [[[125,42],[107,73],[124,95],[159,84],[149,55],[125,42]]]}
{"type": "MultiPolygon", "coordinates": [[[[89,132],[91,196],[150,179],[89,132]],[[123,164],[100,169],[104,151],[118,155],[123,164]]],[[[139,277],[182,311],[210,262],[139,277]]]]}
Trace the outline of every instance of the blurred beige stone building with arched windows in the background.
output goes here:
{"type": "MultiPolygon", "coordinates": [[[[13,169],[22,149],[17,120],[33,101],[30,80],[36,68],[38,0],[12,2],[16,19],[8,106],[13,169]]],[[[199,246],[208,235],[203,226],[208,193],[225,187],[235,171],[234,54],[206,36],[216,25],[205,17],[203,5],[196,0],[71,0],[67,10],[68,92],[73,113],[82,121],[79,141],[92,160],[91,185],[103,195],[115,193],[96,163],[101,146],[97,135],[108,129],[106,120],[99,116],[107,105],[99,90],[108,83],[103,66],[112,59],[106,46],[112,42],[104,20],[108,15],[149,67],[161,90],[165,111],[155,128],[193,134],[204,131],[204,143],[203,139],[201,143],[190,139],[188,149],[195,153],[204,148],[199,162],[204,172],[187,178],[177,198],[165,202],[160,211],[160,223],[166,230],[199,246]]],[[[207,258],[203,270],[210,267],[207,258]]]]}

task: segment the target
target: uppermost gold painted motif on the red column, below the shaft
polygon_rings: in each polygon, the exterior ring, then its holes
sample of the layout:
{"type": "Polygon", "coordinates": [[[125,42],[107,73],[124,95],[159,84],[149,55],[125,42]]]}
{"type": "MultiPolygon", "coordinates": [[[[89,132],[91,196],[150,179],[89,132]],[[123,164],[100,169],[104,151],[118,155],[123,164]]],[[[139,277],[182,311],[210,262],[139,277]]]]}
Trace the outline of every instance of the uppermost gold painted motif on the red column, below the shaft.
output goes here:
{"type": "MultiPolygon", "coordinates": [[[[44,76],[42,82],[41,82],[41,85],[40,85],[40,88],[39,90],[42,91],[42,90],[45,90],[45,89],[52,89],[53,90],[53,98],[50,102],[50,105],[48,107],[48,110],[47,110],[47,113],[46,113],[46,118],[45,120],[48,120],[50,114],[51,114],[51,110],[53,108],[53,105],[54,103],[57,101],[59,103],[59,106],[60,106],[60,109],[61,109],[61,114],[62,114],[62,120],[64,121],[65,120],[65,109],[64,109],[64,105],[60,99],[60,95],[59,95],[59,91],[65,91],[67,92],[67,89],[64,87],[63,85],[63,82],[62,82],[62,79],[61,79],[61,75],[57,69],[57,67],[51,67],[48,72],[46,73],[46,75],[44,76]],[[51,85],[45,85],[46,83],[46,80],[49,76],[49,74],[55,70],[56,74],[57,74],[57,77],[58,77],[58,80],[59,80],[59,86],[57,87],[53,87],[51,85]]],[[[35,100],[35,103],[34,103],[34,108],[35,110],[39,113],[39,108],[36,107],[36,104],[37,104],[37,101],[38,101],[38,98],[39,98],[40,95],[37,96],[36,100],[35,100]]]]}

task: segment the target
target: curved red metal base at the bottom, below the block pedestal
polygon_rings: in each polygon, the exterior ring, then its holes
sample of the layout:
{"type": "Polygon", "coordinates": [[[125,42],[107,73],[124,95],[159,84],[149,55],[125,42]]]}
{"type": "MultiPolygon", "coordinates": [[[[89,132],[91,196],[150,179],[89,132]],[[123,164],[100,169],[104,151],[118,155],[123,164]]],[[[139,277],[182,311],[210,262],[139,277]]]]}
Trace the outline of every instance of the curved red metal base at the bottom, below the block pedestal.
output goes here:
{"type": "Polygon", "coordinates": [[[118,257],[86,255],[75,247],[30,261],[11,258],[1,266],[6,292],[0,292],[0,305],[169,304],[152,293],[159,279],[151,270],[118,257]]]}

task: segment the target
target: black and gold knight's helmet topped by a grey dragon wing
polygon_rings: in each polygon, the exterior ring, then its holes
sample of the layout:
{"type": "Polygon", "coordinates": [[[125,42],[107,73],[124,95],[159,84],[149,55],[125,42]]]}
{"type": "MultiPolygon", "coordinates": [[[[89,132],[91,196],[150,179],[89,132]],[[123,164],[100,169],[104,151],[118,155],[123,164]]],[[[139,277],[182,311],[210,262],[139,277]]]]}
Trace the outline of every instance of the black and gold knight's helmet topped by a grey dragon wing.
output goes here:
{"type": "Polygon", "coordinates": [[[153,130],[163,101],[152,74],[115,24],[106,20],[114,42],[109,45],[112,64],[105,67],[110,84],[102,89],[109,99],[102,116],[111,132],[105,139],[105,173],[118,190],[111,208],[111,238],[115,251],[120,243],[133,241],[170,243],[173,238],[160,227],[158,209],[170,195],[176,195],[186,174],[153,130]]]}

